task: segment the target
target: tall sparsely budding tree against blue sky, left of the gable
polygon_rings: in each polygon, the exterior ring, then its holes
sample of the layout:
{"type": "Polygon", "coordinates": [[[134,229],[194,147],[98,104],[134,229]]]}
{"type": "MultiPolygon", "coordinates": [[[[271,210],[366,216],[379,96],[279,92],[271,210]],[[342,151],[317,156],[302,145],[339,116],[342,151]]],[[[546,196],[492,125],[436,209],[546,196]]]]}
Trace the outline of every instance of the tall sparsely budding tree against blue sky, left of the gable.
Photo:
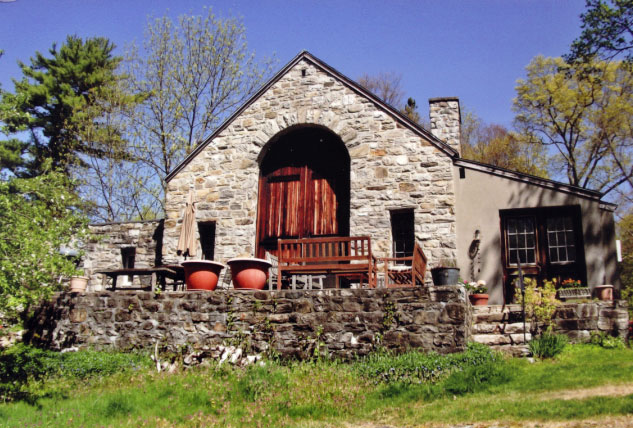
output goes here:
{"type": "Polygon", "coordinates": [[[245,29],[235,18],[182,15],[148,23],[143,54],[133,47],[127,62],[130,86],[146,99],[132,118],[134,154],[158,177],[154,195],[162,204],[164,177],[243,104],[271,72],[248,51],[245,29]]]}

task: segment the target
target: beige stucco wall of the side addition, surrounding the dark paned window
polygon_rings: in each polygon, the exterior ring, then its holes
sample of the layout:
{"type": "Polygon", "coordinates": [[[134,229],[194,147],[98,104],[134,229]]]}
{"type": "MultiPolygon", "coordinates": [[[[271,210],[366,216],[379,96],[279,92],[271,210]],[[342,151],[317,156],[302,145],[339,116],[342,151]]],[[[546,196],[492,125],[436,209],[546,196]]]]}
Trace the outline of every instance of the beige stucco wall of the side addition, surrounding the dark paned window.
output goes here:
{"type": "Polygon", "coordinates": [[[464,279],[487,282],[491,304],[503,303],[499,216],[503,209],[580,206],[588,285],[619,287],[613,212],[601,208],[598,201],[468,168],[460,179],[458,166],[454,176],[458,265],[464,279]],[[481,231],[480,258],[475,260],[475,278],[471,278],[468,248],[477,229],[481,231]]]}

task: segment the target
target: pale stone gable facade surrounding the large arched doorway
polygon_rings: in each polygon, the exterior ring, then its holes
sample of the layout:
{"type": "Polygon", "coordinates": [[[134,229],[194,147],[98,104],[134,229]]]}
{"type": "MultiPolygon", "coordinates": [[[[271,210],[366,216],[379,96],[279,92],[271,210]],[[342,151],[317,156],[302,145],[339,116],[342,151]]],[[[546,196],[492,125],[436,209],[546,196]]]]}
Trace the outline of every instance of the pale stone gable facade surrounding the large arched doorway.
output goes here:
{"type": "Polygon", "coordinates": [[[413,208],[415,237],[429,263],[455,258],[451,157],[431,136],[415,132],[358,88],[303,58],[169,178],[165,261],[180,261],[176,246],[190,189],[197,221],[216,222],[215,259],[253,255],[259,162],[276,136],[300,127],[331,131],[349,153],[350,235],[371,236],[374,253],[390,256],[390,210],[413,208]]]}

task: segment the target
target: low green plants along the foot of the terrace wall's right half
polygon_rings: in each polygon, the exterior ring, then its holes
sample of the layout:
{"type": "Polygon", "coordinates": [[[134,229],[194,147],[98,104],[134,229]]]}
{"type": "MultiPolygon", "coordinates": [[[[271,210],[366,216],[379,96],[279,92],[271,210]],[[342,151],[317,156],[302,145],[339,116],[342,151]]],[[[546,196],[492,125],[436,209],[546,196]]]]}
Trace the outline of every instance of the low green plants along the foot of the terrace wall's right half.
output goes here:
{"type": "Polygon", "coordinates": [[[470,343],[465,352],[439,355],[407,352],[402,355],[372,354],[356,363],[358,373],[375,383],[437,382],[457,370],[501,360],[490,348],[470,343]]]}

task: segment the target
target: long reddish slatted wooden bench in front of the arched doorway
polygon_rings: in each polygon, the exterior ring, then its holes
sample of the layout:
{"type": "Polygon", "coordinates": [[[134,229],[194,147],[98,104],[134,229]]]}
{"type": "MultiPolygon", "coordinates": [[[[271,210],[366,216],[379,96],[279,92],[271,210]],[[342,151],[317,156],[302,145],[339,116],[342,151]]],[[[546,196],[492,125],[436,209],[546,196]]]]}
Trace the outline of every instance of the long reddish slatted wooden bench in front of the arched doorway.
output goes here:
{"type": "Polygon", "coordinates": [[[341,278],[358,279],[361,286],[376,284],[374,258],[369,236],[280,239],[277,243],[279,259],[277,289],[285,275],[336,276],[336,287],[341,278]]]}

